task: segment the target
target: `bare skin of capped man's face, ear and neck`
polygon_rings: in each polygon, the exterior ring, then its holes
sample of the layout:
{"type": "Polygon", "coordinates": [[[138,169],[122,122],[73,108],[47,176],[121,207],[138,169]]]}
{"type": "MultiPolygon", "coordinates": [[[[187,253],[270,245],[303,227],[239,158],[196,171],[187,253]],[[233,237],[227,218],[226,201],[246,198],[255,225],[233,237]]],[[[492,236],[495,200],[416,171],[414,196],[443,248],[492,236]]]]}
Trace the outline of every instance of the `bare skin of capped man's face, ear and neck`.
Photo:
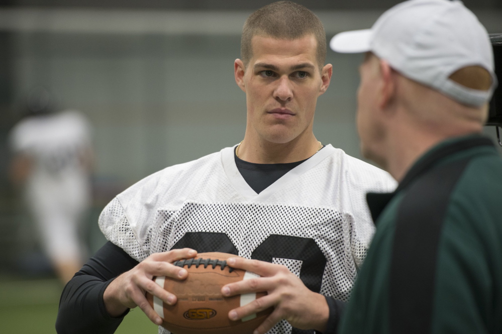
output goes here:
{"type": "MultiPolygon", "coordinates": [[[[464,83],[482,82],[471,80],[471,70],[462,74],[467,78],[464,83]]],[[[361,152],[397,180],[437,143],[482,131],[487,103],[479,107],[462,104],[405,77],[370,52],[359,71],[357,129],[361,152]]]]}

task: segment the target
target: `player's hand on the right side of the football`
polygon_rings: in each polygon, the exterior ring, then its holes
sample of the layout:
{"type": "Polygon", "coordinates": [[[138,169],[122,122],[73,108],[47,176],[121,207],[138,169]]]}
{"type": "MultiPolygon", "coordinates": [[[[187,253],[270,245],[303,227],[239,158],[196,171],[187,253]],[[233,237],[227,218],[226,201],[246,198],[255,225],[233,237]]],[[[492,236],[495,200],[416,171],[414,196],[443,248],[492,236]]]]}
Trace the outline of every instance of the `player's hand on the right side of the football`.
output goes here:
{"type": "Polygon", "coordinates": [[[293,327],[325,331],[329,317],[326,298],[311,291],[298,276],[287,267],[258,260],[230,258],[227,263],[234,268],[251,271],[261,277],[227,284],[222,288],[224,296],[267,291],[267,295],[229,312],[229,318],[237,320],[273,306],[274,311],[256,328],[254,334],[264,334],[281,319],[293,327]]]}

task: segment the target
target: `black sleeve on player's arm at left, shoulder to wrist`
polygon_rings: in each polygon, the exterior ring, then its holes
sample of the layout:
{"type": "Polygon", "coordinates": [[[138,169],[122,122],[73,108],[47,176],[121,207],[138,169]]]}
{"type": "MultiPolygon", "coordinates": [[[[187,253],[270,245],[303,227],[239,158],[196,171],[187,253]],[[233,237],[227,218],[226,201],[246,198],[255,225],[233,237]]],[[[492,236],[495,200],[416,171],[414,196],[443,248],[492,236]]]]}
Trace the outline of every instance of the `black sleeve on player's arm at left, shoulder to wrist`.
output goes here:
{"type": "Polygon", "coordinates": [[[57,333],[114,333],[128,311],[118,318],[111,317],[103,294],[117,276],[138,263],[111,242],[99,249],[64,287],[56,319],[57,333]]]}

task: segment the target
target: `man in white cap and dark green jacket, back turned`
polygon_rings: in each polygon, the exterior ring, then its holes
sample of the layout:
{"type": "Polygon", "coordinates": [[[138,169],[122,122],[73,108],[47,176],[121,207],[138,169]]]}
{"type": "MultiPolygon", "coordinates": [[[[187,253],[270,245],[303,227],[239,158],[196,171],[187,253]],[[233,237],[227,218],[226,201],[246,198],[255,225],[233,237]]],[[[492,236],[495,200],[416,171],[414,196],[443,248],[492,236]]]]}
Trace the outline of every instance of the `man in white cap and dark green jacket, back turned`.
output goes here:
{"type": "Polygon", "coordinates": [[[367,195],[377,231],[341,333],[502,332],[502,159],[480,135],[488,35],[459,1],[411,0],[330,46],[366,52],[361,150],[399,181],[367,195]]]}

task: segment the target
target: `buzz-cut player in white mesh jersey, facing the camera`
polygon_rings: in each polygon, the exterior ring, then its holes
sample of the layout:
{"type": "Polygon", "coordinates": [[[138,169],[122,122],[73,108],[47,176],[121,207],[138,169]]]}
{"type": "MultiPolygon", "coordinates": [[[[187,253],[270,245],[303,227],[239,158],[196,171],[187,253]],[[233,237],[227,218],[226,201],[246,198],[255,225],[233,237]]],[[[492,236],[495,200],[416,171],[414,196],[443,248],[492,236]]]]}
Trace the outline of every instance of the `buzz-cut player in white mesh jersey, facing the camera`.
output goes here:
{"type": "Polygon", "coordinates": [[[395,181],[314,136],[332,74],[325,58],[323,25],[305,7],[278,2],[247,19],[234,63],[247,99],[244,140],[150,175],[108,204],[99,224],[110,242],[66,286],[60,334],[112,333],[136,306],[160,324],[145,291],[174,304],[152,277],[185,278],[170,263],[195,251],[254,259],[234,265],[263,277],[223,293],[268,295],[231,319],[273,306],[258,332],[334,326],[374,231],[365,193],[395,181]]]}

